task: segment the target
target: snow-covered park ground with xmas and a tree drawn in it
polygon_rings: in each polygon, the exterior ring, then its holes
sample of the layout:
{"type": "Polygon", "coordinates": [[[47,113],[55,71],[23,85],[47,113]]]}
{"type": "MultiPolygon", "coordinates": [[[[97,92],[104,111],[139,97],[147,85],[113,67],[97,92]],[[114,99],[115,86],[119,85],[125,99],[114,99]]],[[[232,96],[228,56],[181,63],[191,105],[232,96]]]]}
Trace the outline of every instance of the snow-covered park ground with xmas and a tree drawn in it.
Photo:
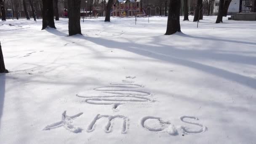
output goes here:
{"type": "Polygon", "coordinates": [[[255,144],[256,21],[224,19],[0,21],[0,144],[255,144]]]}

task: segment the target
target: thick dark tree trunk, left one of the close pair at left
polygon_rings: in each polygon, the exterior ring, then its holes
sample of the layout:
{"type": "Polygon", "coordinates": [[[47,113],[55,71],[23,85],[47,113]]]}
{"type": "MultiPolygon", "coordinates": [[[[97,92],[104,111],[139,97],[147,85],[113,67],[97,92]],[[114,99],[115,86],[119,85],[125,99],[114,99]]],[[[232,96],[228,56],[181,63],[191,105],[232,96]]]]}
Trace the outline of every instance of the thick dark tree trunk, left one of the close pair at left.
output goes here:
{"type": "MultiPolygon", "coordinates": [[[[80,15],[79,15],[80,16],[80,15]]],[[[43,0],[43,29],[51,27],[56,29],[54,24],[53,0],[43,0]]]]}

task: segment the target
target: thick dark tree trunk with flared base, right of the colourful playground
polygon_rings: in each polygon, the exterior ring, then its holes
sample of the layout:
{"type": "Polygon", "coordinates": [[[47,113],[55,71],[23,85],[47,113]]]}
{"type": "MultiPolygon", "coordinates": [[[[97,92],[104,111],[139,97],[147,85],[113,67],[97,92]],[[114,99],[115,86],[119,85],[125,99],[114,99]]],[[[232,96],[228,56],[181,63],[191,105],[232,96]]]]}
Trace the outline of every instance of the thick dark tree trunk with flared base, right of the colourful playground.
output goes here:
{"type": "Polygon", "coordinates": [[[172,35],[176,32],[181,32],[179,24],[179,13],[181,8],[181,0],[170,0],[167,30],[165,35],[172,35]]]}

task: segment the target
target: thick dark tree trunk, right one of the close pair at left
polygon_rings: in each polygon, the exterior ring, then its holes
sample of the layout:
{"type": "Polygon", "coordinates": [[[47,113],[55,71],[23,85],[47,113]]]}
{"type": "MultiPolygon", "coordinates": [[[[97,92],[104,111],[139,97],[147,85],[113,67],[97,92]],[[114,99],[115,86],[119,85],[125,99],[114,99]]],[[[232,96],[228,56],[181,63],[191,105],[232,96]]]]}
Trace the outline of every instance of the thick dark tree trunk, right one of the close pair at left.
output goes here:
{"type": "Polygon", "coordinates": [[[80,5],[81,0],[68,0],[69,10],[69,36],[81,33],[80,26],[80,5]]]}

